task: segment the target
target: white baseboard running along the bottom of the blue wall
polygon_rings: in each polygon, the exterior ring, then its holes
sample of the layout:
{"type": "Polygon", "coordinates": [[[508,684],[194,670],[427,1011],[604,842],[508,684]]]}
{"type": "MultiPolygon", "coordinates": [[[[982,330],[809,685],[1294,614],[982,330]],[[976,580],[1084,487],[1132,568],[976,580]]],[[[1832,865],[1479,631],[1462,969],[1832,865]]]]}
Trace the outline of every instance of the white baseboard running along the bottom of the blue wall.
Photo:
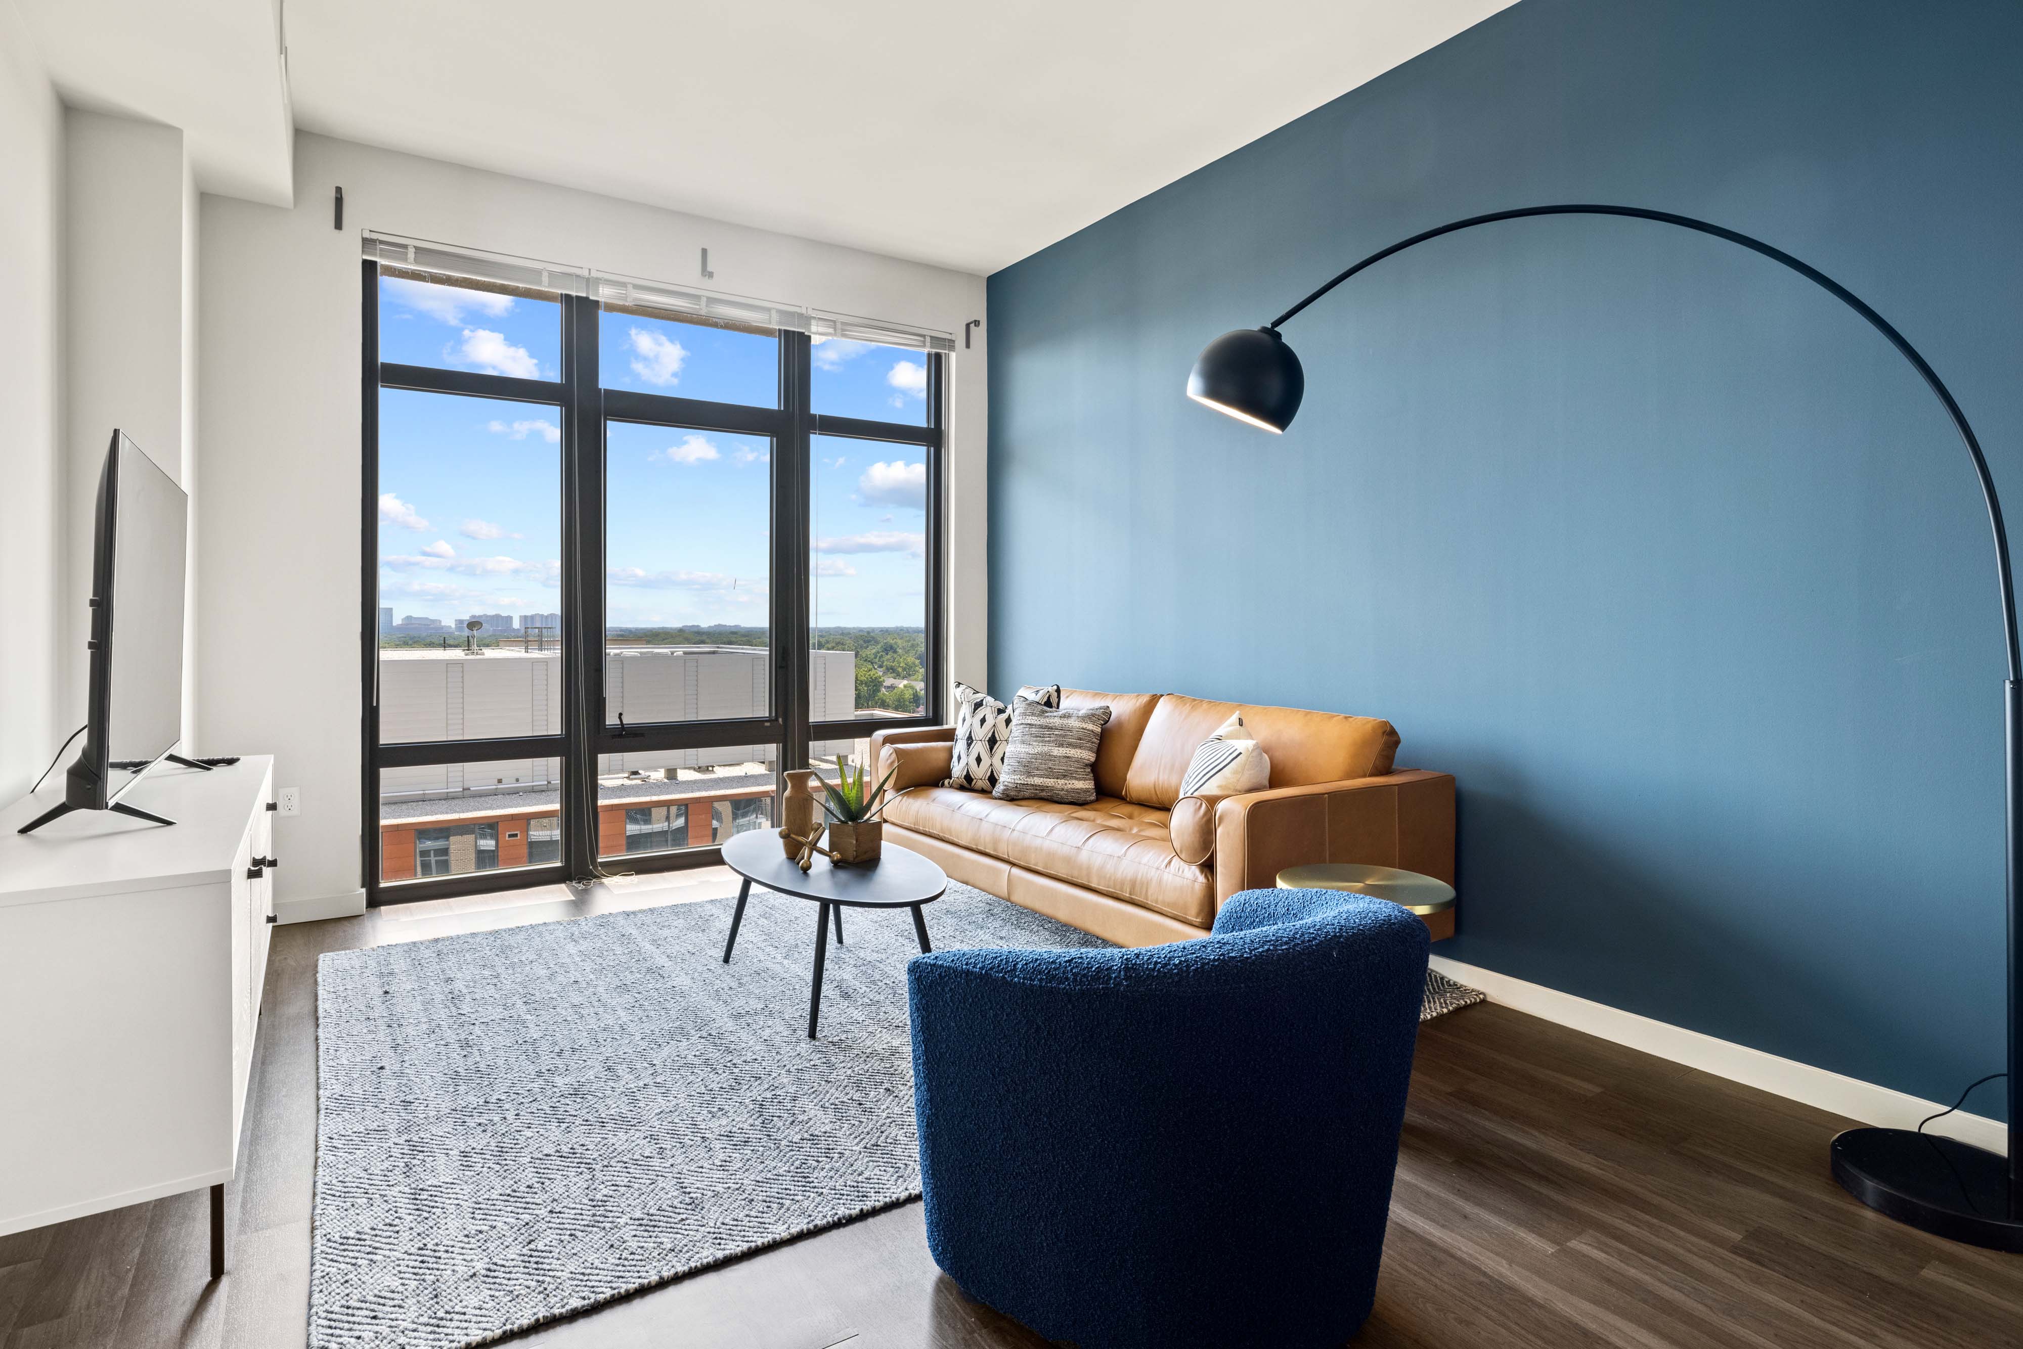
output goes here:
{"type": "MultiPolygon", "coordinates": [[[[1800,1064],[1790,1058],[1750,1050],[1748,1046],[1716,1040],[1713,1036],[1701,1036],[1699,1031],[1689,1031],[1665,1021],[1653,1021],[1651,1017],[1641,1017],[1635,1011],[1622,1011],[1604,1003],[1590,1003],[1584,997],[1560,993],[1558,989],[1548,989],[1537,983],[1525,983],[1523,979],[1511,979],[1509,975],[1499,975],[1493,969],[1463,965],[1461,961],[1448,961],[1438,955],[1432,957],[1432,967],[1448,979],[1465,983],[1471,989],[1481,989],[1493,1003],[1503,1003],[1505,1007],[1515,1007],[1517,1011],[1525,1011],[1544,1021],[1586,1031],[1588,1036],[1610,1040],[1633,1050],[1643,1050],[1645,1054],[1671,1060],[1673,1064],[1699,1068],[1701,1072],[1711,1072],[1718,1078],[1754,1086],[1756,1090],[1770,1092],[1772,1096],[1802,1100],[1809,1106],[1831,1110],[1833,1114],[1845,1114],[1847,1118],[1861,1120],[1863,1125],[1877,1125],[1883,1129],[1916,1129],[1918,1120],[1952,1104],[1950,1100],[1934,1104],[1887,1086],[1847,1078],[1837,1072],[1827,1072],[1825,1068],[1813,1068],[1811,1064],[1800,1064]]],[[[1991,1153],[2007,1155],[2009,1151],[2009,1127],[1983,1114],[1956,1110],[1942,1120],[1934,1120],[1928,1127],[1928,1133],[1950,1135],[1962,1143],[1985,1147],[1991,1153]]]]}

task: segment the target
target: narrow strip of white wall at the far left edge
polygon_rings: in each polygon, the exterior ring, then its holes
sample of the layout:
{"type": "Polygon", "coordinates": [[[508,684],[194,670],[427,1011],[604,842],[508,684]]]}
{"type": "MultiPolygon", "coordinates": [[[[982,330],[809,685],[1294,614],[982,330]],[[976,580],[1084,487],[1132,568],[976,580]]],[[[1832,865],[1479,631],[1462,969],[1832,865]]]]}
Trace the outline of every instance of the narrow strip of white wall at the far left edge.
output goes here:
{"type": "Polygon", "coordinates": [[[63,105],[0,4],[0,801],[28,791],[65,722],[63,105]]]}

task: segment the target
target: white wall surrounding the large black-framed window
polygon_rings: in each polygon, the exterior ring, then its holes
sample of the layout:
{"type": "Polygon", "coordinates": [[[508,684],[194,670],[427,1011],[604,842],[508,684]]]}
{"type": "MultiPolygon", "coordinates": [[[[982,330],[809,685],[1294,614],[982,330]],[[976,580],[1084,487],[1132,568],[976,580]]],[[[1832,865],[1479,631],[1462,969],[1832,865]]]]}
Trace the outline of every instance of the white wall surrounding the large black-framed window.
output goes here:
{"type": "MultiPolygon", "coordinates": [[[[275,821],[277,896],[356,892],[360,576],[358,231],[941,328],[983,279],[320,136],[295,142],[295,206],[202,200],[198,720],[206,752],[271,752],[301,815],[275,821]],[[344,188],[344,231],[332,188],[344,188]],[[301,613],[344,615],[303,625],[301,613]]],[[[951,378],[953,673],[985,678],[983,340],[951,378]]]]}

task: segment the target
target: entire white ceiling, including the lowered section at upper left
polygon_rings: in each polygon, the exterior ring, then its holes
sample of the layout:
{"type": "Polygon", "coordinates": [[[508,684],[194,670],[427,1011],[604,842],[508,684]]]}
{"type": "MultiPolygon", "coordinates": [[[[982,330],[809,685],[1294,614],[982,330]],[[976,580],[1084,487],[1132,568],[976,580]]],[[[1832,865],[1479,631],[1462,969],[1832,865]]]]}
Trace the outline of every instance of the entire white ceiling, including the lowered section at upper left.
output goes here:
{"type": "Polygon", "coordinates": [[[1511,0],[14,0],[287,202],[293,125],[989,273],[1511,0]],[[275,51],[285,18],[287,83],[275,51]]]}

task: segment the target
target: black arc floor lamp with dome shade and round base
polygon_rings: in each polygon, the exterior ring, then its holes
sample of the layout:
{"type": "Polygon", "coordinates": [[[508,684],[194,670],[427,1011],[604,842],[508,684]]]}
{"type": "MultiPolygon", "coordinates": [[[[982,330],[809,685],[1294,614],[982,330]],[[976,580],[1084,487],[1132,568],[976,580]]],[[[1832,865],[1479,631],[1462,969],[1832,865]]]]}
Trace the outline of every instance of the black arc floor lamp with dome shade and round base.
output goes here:
{"type": "Polygon", "coordinates": [[[2007,856],[2005,880],[2009,892],[2009,1157],[1956,1139],[1916,1133],[1910,1129],[1849,1129],[1833,1139],[1833,1177],[1869,1207],[1906,1222],[1914,1228],[1934,1232],[1956,1242],[1991,1246],[1995,1250],[2023,1252],[2023,1003],[2017,1001],[2019,965],[2019,914],[2017,914],[2017,853],[2023,849],[2023,661],[2017,657],[2017,617],[2015,591],[2009,580],[2009,534],[2003,530],[2003,508],[1995,496],[1995,479],[1989,463],[1974,439],[1974,429],[1966,425],[1966,415],[1952,400],[1952,392],[1938,378],[1932,366],[1904,340],[1889,322],[1863,303],[1853,291],[1825,275],[1817,267],[1800,263],[1790,253],[1774,249],[1760,239],[1750,239],[1732,229],[1677,216],[1665,210],[1645,210],[1641,206],[1523,206],[1519,210],[1493,210],[1467,220],[1453,220],[1410,239],[1400,239],[1388,249],[1378,249],[1355,263],[1321,289],[1313,291],[1297,305],[1274,318],[1264,328],[1244,328],[1226,332],[1202,350],[1188,376],[1188,396],[1196,402],[1228,413],[1270,433],[1285,431],[1299,413],[1299,400],[1307,392],[1307,376],[1299,356],[1279,336],[1279,328],[1311,305],[1315,299],[1335,289],[1357,271],[1382,263],[1392,253],[1453,235],[1455,231],[1493,224],[1497,220],[1521,220],[1525,216],[1631,216],[1637,220],[1657,220],[1677,224],[1699,235],[1713,235],[1728,243],[1742,245],[1752,253],[1762,253],[1770,261],[1782,263],[1800,277],[1813,281],[1855,313],[1865,318],[1889,340],[1889,346],[1908,360],[1938,400],[1946,404],[1966,453],[1974,461],[1981,479],[1981,496],[1989,506],[1989,528],[1995,534],[1995,572],[2001,582],[2003,635],[2009,643],[2009,680],[2003,686],[2003,734],[2007,744],[2007,856]]]}

